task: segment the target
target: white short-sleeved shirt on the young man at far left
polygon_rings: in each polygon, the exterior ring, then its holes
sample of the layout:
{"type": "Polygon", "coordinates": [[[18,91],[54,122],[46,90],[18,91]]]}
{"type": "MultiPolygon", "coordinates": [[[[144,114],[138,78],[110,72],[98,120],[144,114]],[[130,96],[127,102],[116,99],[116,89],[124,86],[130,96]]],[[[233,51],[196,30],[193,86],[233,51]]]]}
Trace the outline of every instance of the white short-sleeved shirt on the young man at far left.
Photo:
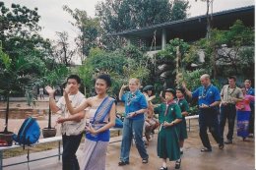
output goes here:
{"type": "MultiPolygon", "coordinates": [[[[80,104],[85,101],[85,95],[78,91],[78,93],[74,95],[69,95],[69,99],[71,101],[71,104],[74,108],[80,106],[80,104]]],[[[67,109],[65,98],[62,96],[59,98],[57,102],[57,107],[60,109],[58,112],[61,114],[62,117],[69,117],[70,113],[67,109]]],[[[83,133],[85,129],[85,123],[84,120],[81,120],[80,122],[76,121],[66,121],[61,124],[61,133],[62,135],[67,135],[67,136],[76,136],[81,133],[83,133]]]]}

